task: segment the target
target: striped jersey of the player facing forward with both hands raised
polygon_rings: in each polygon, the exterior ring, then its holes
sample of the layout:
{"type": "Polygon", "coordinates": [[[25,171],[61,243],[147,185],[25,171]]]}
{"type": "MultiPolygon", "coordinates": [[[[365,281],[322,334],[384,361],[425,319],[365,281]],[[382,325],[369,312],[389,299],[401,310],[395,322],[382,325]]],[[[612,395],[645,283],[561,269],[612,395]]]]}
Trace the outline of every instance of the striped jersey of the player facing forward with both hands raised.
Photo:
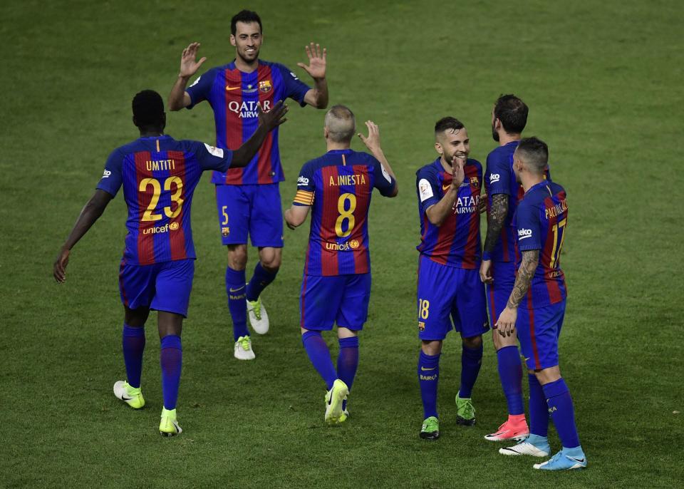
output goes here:
{"type": "MultiPolygon", "coordinates": [[[[304,106],[304,96],[309,89],[281,64],[259,61],[256,70],[243,73],[232,61],[210,69],[187,88],[191,101],[187,108],[208,101],[214,110],[216,145],[234,151],[257,130],[259,108],[271,110],[278,101],[288,97],[304,106]]],[[[276,183],[282,180],[285,177],[280,163],[278,128],[266,136],[259,152],[246,167],[212,175],[212,182],[217,185],[276,183]]]]}

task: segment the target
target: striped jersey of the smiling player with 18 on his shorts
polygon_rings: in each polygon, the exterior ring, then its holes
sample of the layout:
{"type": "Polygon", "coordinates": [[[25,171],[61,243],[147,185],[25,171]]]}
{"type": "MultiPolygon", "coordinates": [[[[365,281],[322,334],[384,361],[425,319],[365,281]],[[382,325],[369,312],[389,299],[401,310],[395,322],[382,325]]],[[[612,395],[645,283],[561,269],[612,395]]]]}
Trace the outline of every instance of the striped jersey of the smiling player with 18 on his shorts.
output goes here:
{"type": "Polygon", "coordinates": [[[477,160],[467,160],[465,180],[458,189],[452,212],[441,226],[433,225],[426,210],[442,200],[452,182],[450,172],[442,167],[441,158],[425,165],[416,172],[418,191],[418,215],[420,217],[420,254],[449,267],[474,269],[480,267],[480,191],[482,190],[482,165],[477,160]]]}

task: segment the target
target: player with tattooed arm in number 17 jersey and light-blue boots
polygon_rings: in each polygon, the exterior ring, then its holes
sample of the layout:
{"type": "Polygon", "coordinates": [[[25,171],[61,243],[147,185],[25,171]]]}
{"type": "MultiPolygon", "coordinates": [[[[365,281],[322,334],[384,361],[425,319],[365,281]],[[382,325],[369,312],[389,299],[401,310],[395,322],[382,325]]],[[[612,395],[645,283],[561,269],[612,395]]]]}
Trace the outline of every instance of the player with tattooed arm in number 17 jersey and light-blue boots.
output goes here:
{"type": "Polygon", "coordinates": [[[530,435],[504,455],[546,457],[549,415],[563,448],[551,459],[534,465],[541,470],[586,467],[579,444],[570,391],[561,377],[558,339],[565,316],[566,286],[560,264],[568,223],[566,192],[544,178],[549,148],[537,138],[520,140],[513,155],[513,170],[524,188],[514,225],[519,249],[518,273],[497,332],[517,336],[529,369],[530,435]],[[533,380],[534,379],[534,380],[533,380]]]}

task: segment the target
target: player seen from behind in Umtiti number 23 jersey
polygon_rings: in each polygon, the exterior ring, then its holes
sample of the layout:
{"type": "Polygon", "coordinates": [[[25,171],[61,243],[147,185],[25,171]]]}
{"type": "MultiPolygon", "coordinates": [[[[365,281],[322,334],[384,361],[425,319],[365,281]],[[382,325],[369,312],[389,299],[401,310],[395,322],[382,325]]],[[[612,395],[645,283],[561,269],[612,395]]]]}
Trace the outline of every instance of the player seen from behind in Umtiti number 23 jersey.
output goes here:
{"type": "Polygon", "coordinates": [[[226,171],[247,165],[266,135],[284,122],[286,111],[287,107],[279,102],[270,113],[259,114],[259,127],[252,138],[230,151],[165,135],[162,97],[150,90],[136,94],[133,123],[140,130],[140,138],[110,154],[95,195],[83,207],[54,264],[54,277],[63,283],[71,249],[123,186],[128,234],[119,289],[124,307],[126,380],[114,384],[114,394],[132,408],[145,406],[140,388],[144,326],[150,309],[155,309],[161,341],[162,435],[173,436],[182,431],[177,422],[176,401],[182,364],[180,334],[195,272],[190,226],[193,192],[204,170],[226,171]]]}

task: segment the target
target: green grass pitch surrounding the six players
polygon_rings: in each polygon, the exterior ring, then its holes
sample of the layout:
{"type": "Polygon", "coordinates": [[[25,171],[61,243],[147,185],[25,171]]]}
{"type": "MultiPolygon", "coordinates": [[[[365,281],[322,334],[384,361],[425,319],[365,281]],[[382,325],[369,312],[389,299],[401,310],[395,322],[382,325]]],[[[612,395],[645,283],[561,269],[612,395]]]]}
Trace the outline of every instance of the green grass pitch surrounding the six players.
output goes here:
{"type": "MultiPolygon", "coordinates": [[[[678,1],[547,2],[26,0],[0,6],[0,486],[231,488],[679,487],[684,478],[682,350],[684,7],[678,1]],[[206,67],[232,59],[229,19],[264,21],[261,57],[294,68],[328,48],[331,103],[380,125],[398,174],[395,200],[371,209],[373,294],[361,335],[352,417],[323,424],[323,384],[299,339],[308,226],[286,230],[266,290],[271,332],[256,361],[232,356],[209,175],[195,194],[199,259],[185,322],[177,438],[157,432],[156,318],[147,325],[147,406],[120,404],[124,376],[117,272],[121,195],[73,250],[67,283],[51,267],[110,150],[138,137],[130,100],[166,97],[180,53],[201,41],[206,67]],[[484,434],[504,417],[492,339],[474,391],[477,426],[455,423],[460,341],[445,341],[442,438],[418,438],[415,170],[432,125],[456,115],[472,157],[494,147],[500,93],[530,107],[525,134],[549,143],[568,191],[569,302],[561,371],[589,468],[539,473],[484,434]]],[[[302,163],[325,151],[323,112],[291,104],[281,129],[284,205],[302,163]]],[[[207,104],[170,113],[167,133],[213,140],[207,104]]],[[[361,149],[358,140],[353,148],[361,149]]],[[[251,269],[255,253],[250,249],[251,269]]],[[[328,336],[333,354],[336,341],[328,336]]],[[[551,428],[551,443],[559,446],[551,428]]]]}

